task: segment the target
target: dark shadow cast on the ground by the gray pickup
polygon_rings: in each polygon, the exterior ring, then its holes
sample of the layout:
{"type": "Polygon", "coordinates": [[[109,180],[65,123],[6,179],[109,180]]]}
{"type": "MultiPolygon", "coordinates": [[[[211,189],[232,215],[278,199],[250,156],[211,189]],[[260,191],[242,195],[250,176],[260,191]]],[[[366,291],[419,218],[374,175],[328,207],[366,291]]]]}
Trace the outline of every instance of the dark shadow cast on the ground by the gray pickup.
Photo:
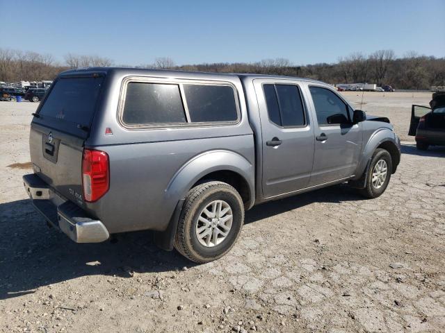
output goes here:
{"type": "MultiPolygon", "coordinates": [[[[359,200],[345,186],[277,200],[246,212],[245,223],[314,203],[359,200]]],[[[194,264],[176,250],[157,248],[152,232],[120,234],[117,242],[76,244],[47,228],[29,200],[0,204],[0,300],[88,275],[130,278],[134,273],[179,271],[194,264]]]]}

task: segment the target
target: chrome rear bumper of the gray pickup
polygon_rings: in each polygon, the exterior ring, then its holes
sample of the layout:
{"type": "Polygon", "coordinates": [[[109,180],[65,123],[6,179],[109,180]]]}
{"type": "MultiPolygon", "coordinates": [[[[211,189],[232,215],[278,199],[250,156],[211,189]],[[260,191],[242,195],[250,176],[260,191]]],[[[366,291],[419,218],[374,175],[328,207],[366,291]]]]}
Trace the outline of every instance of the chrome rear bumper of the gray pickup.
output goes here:
{"type": "Polygon", "coordinates": [[[65,200],[38,176],[23,176],[31,202],[42,216],[76,243],[99,243],[110,237],[104,223],[91,219],[79,206],[65,200]]]}

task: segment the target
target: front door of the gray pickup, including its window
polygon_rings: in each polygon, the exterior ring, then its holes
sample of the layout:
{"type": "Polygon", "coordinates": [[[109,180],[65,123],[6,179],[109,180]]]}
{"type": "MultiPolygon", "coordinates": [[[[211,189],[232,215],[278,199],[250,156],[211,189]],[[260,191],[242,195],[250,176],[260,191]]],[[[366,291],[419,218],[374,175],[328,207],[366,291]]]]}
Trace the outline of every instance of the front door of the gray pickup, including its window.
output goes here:
{"type": "Polygon", "coordinates": [[[361,123],[352,123],[353,110],[331,89],[310,85],[316,114],[314,168],[310,186],[353,175],[362,152],[361,123]]]}

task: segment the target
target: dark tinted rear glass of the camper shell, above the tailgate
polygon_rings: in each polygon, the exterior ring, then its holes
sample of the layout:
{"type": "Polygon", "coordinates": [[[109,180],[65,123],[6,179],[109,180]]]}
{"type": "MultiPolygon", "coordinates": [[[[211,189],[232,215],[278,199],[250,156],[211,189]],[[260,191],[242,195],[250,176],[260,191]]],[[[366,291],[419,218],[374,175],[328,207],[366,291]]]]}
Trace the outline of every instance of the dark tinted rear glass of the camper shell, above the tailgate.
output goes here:
{"type": "Polygon", "coordinates": [[[39,114],[89,126],[104,78],[60,78],[39,114]]]}

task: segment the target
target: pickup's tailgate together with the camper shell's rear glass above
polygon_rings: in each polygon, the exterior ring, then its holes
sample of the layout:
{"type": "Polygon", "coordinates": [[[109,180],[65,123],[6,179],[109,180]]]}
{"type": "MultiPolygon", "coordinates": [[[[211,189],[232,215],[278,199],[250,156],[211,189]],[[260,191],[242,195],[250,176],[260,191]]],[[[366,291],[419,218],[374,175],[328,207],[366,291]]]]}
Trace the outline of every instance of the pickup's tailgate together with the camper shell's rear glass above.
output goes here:
{"type": "Polygon", "coordinates": [[[83,205],[81,164],[104,76],[58,78],[31,123],[34,172],[65,198],[83,205]]]}

